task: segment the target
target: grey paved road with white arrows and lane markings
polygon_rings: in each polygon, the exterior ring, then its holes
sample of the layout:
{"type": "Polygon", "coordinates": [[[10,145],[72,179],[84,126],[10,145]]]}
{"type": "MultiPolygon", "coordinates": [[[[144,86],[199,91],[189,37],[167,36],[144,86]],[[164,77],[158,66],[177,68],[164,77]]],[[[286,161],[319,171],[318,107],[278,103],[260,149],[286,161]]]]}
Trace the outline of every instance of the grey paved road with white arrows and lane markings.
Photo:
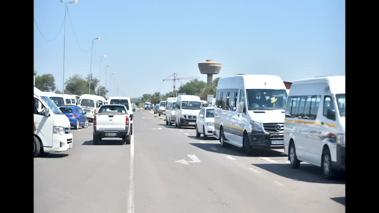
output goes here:
{"type": "Polygon", "coordinates": [[[345,212],[344,177],[325,180],[307,163],[291,169],[283,149],[247,157],[165,124],[135,112],[130,145],[94,146],[92,126],[72,130],[73,149],[34,158],[34,211],[345,212]]]}

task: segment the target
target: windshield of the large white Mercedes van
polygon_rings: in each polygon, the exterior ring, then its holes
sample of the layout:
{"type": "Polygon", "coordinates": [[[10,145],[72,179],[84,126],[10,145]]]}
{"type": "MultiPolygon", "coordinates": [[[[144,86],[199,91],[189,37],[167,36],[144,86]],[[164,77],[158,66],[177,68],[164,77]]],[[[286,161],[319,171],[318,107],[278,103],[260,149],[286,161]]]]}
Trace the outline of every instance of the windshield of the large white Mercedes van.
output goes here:
{"type": "Polygon", "coordinates": [[[284,110],[287,103],[285,89],[246,89],[249,110],[284,110]]]}

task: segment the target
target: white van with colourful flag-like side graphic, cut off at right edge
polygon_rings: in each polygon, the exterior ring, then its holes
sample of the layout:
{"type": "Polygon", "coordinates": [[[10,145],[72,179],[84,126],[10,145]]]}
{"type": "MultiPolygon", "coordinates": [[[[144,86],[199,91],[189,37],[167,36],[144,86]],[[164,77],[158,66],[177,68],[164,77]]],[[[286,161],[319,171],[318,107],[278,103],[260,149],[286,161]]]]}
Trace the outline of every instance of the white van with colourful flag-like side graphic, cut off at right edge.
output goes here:
{"type": "Polygon", "coordinates": [[[284,147],[292,168],[321,166],[330,179],[345,170],[345,76],[294,81],[285,112],[284,147]]]}

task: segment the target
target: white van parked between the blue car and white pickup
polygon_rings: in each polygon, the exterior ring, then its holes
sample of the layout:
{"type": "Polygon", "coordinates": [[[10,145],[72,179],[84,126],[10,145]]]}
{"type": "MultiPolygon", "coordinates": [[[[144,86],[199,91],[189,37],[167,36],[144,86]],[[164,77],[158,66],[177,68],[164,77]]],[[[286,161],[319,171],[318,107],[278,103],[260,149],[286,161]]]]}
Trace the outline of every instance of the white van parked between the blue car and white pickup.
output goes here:
{"type": "Polygon", "coordinates": [[[86,116],[90,121],[93,121],[94,114],[103,104],[106,104],[106,100],[103,96],[90,94],[81,95],[77,102],[77,106],[81,107],[87,113],[86,116]]]}

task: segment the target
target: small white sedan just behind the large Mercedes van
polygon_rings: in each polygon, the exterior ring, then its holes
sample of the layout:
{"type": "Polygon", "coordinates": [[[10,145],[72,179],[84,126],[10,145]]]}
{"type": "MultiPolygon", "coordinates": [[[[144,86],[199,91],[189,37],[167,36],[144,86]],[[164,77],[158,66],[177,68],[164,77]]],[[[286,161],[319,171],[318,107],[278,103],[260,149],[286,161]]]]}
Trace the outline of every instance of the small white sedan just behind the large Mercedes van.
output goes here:
{"type": "Polygon", "coordinates": [[[215,107],[204,107],[196,117],[196,137],[203,134],[206,140],[208,135],[213,136],[215,132],[215,107]]]}

